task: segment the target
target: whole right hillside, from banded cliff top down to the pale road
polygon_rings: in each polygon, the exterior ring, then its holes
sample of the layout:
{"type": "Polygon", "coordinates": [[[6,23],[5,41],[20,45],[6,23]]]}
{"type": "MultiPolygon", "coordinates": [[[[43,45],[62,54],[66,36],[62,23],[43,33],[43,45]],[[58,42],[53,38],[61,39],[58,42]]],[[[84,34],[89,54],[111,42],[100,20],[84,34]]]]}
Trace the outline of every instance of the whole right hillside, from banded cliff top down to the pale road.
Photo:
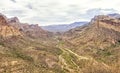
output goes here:
{"type": "MultiPolygon", "coordinates": [[[[64,35],[66,36],[63,36],[65,47],[70,48],[75,53],[91,56],[110,67],[114,65],[112,68],[119,66],[119,18],[107,15],[95,16],[88,25],[72,29],[64,35]]],[[[118,69],[114,73],[119,73],[118,69]]]]}

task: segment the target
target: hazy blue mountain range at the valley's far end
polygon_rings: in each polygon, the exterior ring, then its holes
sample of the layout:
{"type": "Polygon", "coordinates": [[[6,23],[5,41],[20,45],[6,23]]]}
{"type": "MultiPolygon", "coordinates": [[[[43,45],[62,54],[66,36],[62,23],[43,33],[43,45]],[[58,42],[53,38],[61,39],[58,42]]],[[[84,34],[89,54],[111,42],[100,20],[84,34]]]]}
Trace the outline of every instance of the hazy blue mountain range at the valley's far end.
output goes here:
{"type": "Polygon", "coordinates": [[[74,22],[71,24],[59,24],[59,25],[48,25],[48,26],[41,26],[44,30],[51,31],[51,32],[65,32],[70,29],[82,26],[87,24],[88,22],[74,22]]]}

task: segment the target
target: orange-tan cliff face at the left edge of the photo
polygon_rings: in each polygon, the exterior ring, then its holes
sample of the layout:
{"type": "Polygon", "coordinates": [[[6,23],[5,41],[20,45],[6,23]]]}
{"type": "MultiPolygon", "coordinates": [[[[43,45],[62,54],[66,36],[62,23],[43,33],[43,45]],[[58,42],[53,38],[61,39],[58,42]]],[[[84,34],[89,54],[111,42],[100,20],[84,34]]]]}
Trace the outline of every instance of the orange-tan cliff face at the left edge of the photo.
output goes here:
{"type": "Polygon", "coordinates": [[[2,38],[22,35],[18,29],[10,26],[9,24],[7,17],[0,14],[0,36],[2,38]]]}

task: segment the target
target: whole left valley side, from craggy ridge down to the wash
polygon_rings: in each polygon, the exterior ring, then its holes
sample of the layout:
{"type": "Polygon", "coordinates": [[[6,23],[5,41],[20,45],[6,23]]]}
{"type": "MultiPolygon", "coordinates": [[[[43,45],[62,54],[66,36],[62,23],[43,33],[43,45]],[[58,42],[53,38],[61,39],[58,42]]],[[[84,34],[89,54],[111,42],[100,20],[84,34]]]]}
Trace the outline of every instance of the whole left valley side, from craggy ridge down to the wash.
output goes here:
{"type": "Polygon", "coordinates": [[[0,29],[0,73],[49,73],[60,68],[61,50],[52,46],[51,32],[2,14],[0,29]]]}

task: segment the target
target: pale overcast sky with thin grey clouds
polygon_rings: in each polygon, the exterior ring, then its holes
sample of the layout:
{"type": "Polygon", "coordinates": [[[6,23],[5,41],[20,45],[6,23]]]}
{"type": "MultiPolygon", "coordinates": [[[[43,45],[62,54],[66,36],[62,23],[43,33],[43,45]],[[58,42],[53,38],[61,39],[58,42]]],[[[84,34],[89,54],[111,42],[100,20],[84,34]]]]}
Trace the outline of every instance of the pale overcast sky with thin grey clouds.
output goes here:
{"type": "Polygon", "coordinates": [[[0,13],[40,26],[69,24],[120,13],[120,0],[1,0],[0,13]]]}

